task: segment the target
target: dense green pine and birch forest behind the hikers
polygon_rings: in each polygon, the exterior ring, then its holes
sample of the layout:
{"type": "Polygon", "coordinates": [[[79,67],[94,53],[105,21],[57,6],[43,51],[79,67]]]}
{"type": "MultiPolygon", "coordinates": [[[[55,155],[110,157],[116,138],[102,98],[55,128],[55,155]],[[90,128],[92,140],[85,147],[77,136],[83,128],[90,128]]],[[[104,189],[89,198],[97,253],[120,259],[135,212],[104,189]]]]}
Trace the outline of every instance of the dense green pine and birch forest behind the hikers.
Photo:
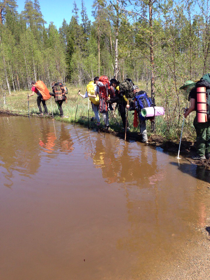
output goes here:
{"type": "Polygon", "coordinates": [[[187,102],[179,87],[209,71],[209,6],[209,0],[94,0],[91,21],[81,0],[67,22],[58,3],[57,29],[53,17],[46,27],[38,0],[26,0],[21,13],[15,0],[0,1],[0,103],[30,90],[31,80],[86,88],[95,76],[131,78],[164,106],[161,133],[171,137],[187,102]]]}

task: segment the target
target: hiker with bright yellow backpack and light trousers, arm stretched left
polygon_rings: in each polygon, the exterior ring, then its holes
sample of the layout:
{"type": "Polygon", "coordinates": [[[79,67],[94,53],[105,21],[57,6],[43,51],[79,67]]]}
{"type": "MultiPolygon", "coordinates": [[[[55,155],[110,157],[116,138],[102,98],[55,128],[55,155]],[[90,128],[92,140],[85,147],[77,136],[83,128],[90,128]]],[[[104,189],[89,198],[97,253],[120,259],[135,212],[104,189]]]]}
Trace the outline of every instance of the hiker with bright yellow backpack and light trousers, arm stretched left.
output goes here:
{"type": "Polygon", "coordinates": [[[94,83],[94,81],[90,81],[90,83],[88,83],[87,85],[87,90],[85,94],[83,95],[80,92],[78,92],[78,94],[84,99],[88,97],[90,98],[92,110],[95,114],[95,118],[97,121],[97,126],[99,126],[101,124],[100,116],[99,116],[99,97],[94,97],[96,89],[97,89],[97,85],[94,83]]]}

